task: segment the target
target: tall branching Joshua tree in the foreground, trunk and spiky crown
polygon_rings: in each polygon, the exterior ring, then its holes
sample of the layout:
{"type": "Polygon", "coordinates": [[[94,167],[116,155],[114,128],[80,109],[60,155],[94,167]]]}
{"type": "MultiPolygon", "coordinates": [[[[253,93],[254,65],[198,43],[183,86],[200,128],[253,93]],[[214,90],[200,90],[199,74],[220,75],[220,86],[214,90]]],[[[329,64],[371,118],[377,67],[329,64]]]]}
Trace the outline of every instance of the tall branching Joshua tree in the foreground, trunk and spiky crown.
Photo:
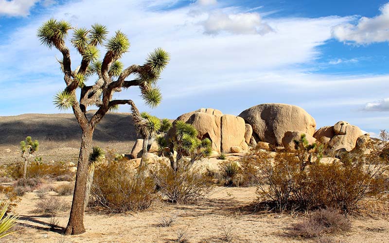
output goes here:
{"type": "Polygon", "coordinates": [[[131,65],[125,69],[119,61],[130,47],[127,36],[121,32],[107,39],[108,31],[104,25],[94,24],[90,29],[74,28],[71,38],[72,46],[81,54],[82,60],[78,67],[71,69],[69,48],[65,44],[68,32],[73,29],[66,21],[50,19],[45,22],[37,32],[42,45],[55,48],[62,53],[58,60],[64,73],[65,89],[54,97],[54,104],[59,109],[71,108],[81,130],[80,155],[76,182],[71,205],[71,213],[65,234],[81,234],[84,228],[84,204],[86,184],[88,178],[88,154],[91,147],[93,132],[96,125],[112,108],[120,104],[129,104],[135,107],[132,100],[117,100],[113,98],[115,92],[123,88],[139,87],[146,104],[157,106],[161,93],[156,87],[160,72],[169,61],[169,54],[158,48],[150,53],[143,65],[131,65]],[[102,61],[99,61],[98,45],[106,48],[102,61]],[[130,75],[134,79],[126,80],[130,75]],[[97,77],[93,85],[86,85],[87,79],[97,77]],[[79,101],[76,90],[80,89],[79,101]],[[96,105],[97,111],[87,117],[88,106],[96,105]]]}

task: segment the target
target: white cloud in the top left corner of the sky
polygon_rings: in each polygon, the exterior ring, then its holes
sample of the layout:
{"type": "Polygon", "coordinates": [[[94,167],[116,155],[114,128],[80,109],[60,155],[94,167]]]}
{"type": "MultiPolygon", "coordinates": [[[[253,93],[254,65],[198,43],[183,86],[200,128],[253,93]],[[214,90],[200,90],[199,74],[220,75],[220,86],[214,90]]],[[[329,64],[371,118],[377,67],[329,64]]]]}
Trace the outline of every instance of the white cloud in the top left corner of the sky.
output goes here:
{"type": "Polygon", "coordinates": [[[26,17],[39,0],[0,0],[0,16],[26,17]]]}

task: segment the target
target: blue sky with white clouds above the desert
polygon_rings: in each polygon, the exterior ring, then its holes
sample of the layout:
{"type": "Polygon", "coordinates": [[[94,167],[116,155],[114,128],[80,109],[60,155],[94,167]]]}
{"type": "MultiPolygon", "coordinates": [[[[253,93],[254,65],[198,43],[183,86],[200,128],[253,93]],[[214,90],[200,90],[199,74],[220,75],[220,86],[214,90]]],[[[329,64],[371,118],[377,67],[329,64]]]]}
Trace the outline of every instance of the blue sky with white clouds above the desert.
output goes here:
{"type": "MultiPolygon", "coordinates": [[[[121,29],[131,41],[125,65],[141,64],[156,47],[170,52],[159,107],[143,105],[136,89],[116,95],[159,117],[286,103],[318,127],[343,120],[373,136],[389,129],[388,1],[0,0],[0,116],[59,112],[59,53],[36,38],[51,17],[121,29]]],[[[75,68],[80,57],[71,56],[75,68]]]]}

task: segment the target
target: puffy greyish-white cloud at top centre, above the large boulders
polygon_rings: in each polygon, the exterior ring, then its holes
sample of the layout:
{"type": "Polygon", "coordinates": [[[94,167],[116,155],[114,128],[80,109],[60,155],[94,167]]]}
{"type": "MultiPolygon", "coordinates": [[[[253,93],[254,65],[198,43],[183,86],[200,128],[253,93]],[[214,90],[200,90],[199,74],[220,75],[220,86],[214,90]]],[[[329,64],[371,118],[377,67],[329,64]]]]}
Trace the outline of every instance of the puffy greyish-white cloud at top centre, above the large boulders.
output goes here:
{"type": "Polygon", "coordinates": [[[217,35],[221,32],[264,35],[273,31],[267,23],[262,21],[258,13],[227,14],[216,11],[209,14],[203,26],[204,33],[209,35],[217,35]]]}

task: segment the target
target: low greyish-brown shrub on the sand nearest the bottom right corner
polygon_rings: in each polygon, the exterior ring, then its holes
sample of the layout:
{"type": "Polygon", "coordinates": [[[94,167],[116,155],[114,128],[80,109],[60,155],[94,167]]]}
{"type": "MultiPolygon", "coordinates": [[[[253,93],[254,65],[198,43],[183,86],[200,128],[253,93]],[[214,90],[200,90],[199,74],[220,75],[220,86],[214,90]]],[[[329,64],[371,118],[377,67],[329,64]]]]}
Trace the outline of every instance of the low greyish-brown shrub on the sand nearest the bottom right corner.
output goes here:
{"type": "Polygon", "coordinates": [[[313,212],[309,218],[293,226],[293,233],[306,238],[318,237],[322,234],[332,234],[349,231],[350,221],[336,209],[320,209],[313,212]]]}

